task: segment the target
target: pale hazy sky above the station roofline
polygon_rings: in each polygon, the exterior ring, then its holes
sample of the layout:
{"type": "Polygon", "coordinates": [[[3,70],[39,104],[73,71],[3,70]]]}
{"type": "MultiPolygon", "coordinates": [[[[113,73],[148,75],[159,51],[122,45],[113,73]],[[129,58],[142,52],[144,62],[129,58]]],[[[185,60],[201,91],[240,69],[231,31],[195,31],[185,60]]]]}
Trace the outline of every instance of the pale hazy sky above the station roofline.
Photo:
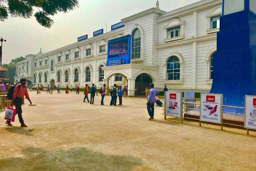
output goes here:
{"type": "MultiPolygon", "coordinates": [[[[171,11],[199,0],[159,0],[160,9],[171,11]]],[[[77,42],[77,37],[105,28],[110,31],[111,25],[122,18],[155,7],[156,0],[79,0],[79,8],[66,14],[59,13],[54,17],[54,25],[44,28],[34,17],[30,19],[11,18],[0,21],[0,37],[3,43],[3,63],[11,59],[36,54],[40,47],[48,52],[59,47],[77,42]]]]}

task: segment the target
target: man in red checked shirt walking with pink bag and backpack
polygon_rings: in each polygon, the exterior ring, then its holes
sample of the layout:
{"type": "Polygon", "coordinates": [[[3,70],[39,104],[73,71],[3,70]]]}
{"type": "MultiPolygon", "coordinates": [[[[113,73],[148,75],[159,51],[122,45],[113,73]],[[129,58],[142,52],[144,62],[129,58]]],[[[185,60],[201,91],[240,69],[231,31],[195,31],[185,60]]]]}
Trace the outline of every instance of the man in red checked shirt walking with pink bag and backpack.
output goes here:
{"type": "MultiPolygon", "coordinates": [[[[24,95],[26,97],[26,99],[29,100],[30,105],[32,104],[30,98],[29,98],[29,94],[26,88],[26,79],[21,79],[20,80],[20,84],[17,84],[14,88],[14,93],[12,96],[12,103],[11,106],[15,105],[15,109],[16,109],[16,114],[18,114],[19,117],[19,121],[21,123],[21,127],[28,127],[26,124],[24,124],[23,118],[22,118],[22,109],[21,109],[21,105],[22,105],[22,98],[24,98],[24,95]],[[19,88],[20,86],[20,88],[19,88]]],[[[10,121],[6,121],[6,124],[9,126],[12,126],[10,121]]]]}

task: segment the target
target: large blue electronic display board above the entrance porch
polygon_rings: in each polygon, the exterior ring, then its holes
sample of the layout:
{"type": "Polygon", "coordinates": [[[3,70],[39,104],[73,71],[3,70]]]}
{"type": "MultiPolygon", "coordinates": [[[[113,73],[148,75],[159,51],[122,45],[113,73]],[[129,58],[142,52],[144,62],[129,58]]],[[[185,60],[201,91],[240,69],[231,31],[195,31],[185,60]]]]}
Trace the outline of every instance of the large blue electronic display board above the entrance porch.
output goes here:
{"type": "Polygon", "coordinates": [[[108,41],[107,66],[131,63],[131,35],[108,41]]]}

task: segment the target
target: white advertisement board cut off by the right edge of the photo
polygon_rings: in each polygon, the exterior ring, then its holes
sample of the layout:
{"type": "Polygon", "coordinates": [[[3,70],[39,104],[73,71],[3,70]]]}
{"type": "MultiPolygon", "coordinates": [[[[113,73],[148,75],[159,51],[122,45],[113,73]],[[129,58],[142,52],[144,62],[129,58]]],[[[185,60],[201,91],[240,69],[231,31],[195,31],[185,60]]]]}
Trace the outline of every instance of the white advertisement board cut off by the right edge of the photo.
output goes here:
{"type": "Polygon", "coordinates": [[[244,128],[256,129],[256,96],[245,96],[244,128]]]}

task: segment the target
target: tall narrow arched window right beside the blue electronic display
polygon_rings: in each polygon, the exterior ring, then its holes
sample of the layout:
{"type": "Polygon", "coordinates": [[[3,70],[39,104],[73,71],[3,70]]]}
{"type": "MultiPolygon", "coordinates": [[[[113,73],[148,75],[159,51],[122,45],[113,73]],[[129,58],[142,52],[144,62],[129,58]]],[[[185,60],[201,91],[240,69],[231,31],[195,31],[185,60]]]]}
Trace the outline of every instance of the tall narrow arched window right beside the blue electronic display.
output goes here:
{"type": "Polygon", "coordinates": [[[132,32],[132,59],[140,58],[141,33],[139,29],[132,32]]]}

